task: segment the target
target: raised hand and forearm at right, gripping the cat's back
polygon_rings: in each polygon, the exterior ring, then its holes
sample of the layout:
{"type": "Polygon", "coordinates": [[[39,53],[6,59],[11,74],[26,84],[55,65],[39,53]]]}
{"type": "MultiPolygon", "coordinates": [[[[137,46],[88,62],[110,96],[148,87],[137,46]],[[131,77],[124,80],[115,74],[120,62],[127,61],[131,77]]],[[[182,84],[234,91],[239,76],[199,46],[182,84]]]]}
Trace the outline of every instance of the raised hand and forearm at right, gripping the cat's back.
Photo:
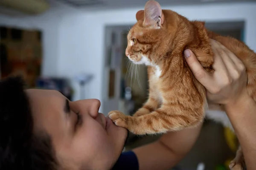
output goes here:
{"type": "Polygon", "coordinates": [[[204,70],[189,49],[184,51],[186,62],[206,88],[207,100],[224,105],[241,144],[247,170],[256,170],[256,102],[247,93],[244,64],[221,43],[211,42],[215,54],[213,74],[204,70]]]}

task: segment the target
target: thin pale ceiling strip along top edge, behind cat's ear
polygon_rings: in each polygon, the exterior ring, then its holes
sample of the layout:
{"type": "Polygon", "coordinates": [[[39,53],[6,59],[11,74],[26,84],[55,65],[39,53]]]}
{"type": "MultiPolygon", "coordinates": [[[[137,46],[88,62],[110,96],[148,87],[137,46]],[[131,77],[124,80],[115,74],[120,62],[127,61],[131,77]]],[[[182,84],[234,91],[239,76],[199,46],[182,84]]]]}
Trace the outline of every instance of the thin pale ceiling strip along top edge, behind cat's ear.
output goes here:
{"type": "MultiPolygon", "coordinates": [[[[50,3],[58,3],[75,8],[87,10],[116,9],[116,8],[143,8],[148,0],[48,0],[50,3]]],[[[256,2],[256,0],[157,0],[161,6],[198,5],[208,3],[241,3],[256,2]]]]}

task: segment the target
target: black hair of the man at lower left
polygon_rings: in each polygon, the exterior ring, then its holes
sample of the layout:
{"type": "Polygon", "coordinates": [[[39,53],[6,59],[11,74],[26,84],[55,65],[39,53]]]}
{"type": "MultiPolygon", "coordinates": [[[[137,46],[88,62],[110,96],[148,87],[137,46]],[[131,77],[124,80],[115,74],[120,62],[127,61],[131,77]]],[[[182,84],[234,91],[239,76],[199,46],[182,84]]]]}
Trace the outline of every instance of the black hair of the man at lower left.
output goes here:
{"type": "Polygon", "coordinates": [[[0,170],[55,170],[51,138],[33,133],[24,85],[21,77],[0,81],[0,170]]]}

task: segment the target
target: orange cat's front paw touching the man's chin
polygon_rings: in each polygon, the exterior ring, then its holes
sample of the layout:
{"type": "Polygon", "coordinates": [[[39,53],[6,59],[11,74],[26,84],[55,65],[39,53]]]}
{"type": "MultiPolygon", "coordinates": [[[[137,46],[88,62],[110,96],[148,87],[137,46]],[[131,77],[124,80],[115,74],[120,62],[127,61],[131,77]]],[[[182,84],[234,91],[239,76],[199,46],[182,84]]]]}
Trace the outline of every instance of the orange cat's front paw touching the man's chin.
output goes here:
{"type": "Polygon", "coordinates": [[[116,126],[127,128],[127,116],[120,111],[110,111],[108,117],[116,126]]]}

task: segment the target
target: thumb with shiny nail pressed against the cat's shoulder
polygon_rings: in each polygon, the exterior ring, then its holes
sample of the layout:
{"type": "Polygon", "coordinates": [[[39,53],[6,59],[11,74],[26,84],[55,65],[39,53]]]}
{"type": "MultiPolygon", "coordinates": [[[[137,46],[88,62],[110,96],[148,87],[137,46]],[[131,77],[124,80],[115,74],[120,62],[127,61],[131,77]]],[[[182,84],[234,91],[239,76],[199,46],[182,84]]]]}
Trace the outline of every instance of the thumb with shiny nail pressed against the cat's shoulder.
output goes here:
{"type": "Polygon", "coordinates": [[[195,54],[191,50],[186,49],[184,51],[184,56],[195,78],[205,87],[209,87],[212,83],[212,77],[204,70],[195,54]]]}

